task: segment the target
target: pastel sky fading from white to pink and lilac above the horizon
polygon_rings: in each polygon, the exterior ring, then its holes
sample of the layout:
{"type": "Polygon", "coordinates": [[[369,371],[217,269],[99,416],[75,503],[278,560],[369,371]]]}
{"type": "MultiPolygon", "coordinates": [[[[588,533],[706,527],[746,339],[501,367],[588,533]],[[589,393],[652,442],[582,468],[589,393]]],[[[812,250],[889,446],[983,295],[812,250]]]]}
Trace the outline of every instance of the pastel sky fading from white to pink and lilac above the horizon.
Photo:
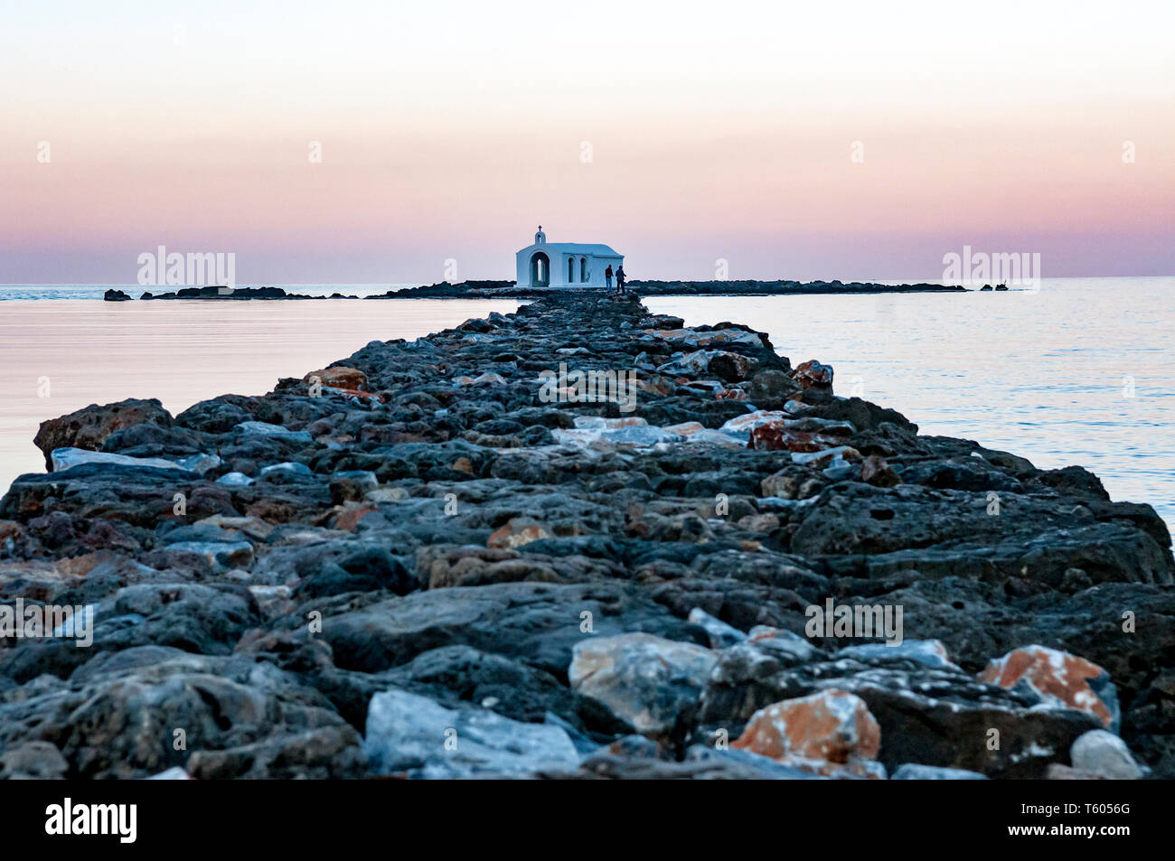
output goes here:
{"type": "Polygon", "coordinates": [[[1170,0],[6,0],[0,283],[161,244],[508,278],[538,223],[634,278],[1175,274],[1173,33],[1170,0]]]}

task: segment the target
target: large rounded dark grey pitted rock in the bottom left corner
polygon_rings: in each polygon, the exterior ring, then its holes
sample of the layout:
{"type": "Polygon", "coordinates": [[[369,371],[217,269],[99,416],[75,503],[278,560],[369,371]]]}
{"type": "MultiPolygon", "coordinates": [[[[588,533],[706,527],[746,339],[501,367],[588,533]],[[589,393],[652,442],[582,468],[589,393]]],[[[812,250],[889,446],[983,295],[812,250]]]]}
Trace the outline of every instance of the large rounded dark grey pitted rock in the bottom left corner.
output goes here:
{"type": "Polygon", "coordinates": [[[197,776],[357,776],[358,733],[294,675],[227,657],[156,662],[163,655],[152,648],[146,661],[69,681],[42,677],[24,698],[0,701],[0,749],[52,740],[75,778],[147,778],[186,765],[197,776]],[[318,741],[306,745],[307,733],[318,741]],[[325,735],[335,744],[322,744],[325,735]],[[242,752],[212,767],[214,752],[256,745],[266,755],[242,752]],[[196,752],[203,766],[189,761],[196,752]]]}

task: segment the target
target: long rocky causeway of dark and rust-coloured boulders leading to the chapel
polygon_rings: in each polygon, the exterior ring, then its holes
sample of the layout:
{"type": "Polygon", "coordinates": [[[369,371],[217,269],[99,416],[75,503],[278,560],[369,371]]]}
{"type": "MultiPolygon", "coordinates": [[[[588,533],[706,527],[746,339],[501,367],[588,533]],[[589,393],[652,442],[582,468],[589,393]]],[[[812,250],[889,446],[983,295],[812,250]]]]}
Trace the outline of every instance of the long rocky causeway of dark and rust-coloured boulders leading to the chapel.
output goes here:
{"type": "Polygon", "coordinates": [[[745,325],[559,294],[36,444],[0,776],[1175,775],[1154,510],[745,325]]]}

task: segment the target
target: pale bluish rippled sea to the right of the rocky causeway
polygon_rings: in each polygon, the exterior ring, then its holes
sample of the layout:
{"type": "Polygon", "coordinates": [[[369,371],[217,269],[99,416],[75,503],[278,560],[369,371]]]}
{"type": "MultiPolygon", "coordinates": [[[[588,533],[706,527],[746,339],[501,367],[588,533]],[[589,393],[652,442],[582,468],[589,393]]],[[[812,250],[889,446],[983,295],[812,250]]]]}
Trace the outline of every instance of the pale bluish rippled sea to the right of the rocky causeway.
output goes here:
{"type": "Polygon", "coordinates": [[[1039,292],[650,298],[689,324],[771,334],[834,390],[922,433],[1077,464],[1175,530],[1175,277],[1043,278],[1039,292]]]}

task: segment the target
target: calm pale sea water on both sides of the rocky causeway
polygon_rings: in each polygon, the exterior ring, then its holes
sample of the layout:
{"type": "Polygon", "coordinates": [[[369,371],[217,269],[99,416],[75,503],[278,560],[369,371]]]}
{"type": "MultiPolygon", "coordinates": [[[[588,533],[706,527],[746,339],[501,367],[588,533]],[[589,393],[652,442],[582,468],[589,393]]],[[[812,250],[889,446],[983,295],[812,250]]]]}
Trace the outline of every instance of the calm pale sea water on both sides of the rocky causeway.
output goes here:
{"type": "MultiPolygon", "coordinates": [[[[0,487],[40,471],[38,424],[126,397],[173,413],[262,393],[369,341],[415,338],[503,300],[125,302],[107,285],[0,285],[0,487]],[[48,383],[47,397],[46,381],[48,383]]],[[[371,295],[401,284],[287,285],[371,295]]],[[[142,288],[123,287],[139,296],[142,288]]],[[[1043,280],[1039,292],[665,297],[691,324],[771,334],[793,364],[835,369],[835,390],[901,410],[924,433],[975,439],[1038,466],[1080,464],[1115,499],[1175,529],[1175,277],[1043,280]]]]}

